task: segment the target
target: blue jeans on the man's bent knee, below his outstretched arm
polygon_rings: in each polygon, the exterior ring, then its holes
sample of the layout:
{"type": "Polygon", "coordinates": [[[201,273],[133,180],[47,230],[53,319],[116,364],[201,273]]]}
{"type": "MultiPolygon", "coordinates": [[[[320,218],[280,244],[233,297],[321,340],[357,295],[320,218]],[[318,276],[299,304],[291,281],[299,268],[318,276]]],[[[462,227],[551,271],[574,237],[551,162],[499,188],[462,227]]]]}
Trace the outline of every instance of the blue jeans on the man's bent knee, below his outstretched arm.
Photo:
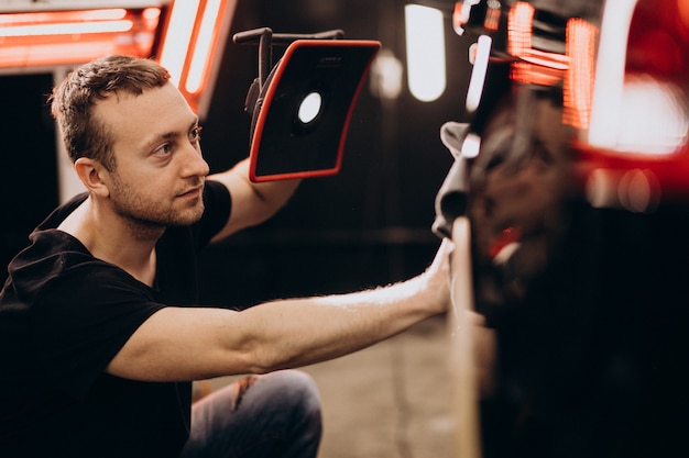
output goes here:
{"type": "Polygon", "coordinates": [[[244,378],[195,403],[179,457],[316,457],[320,436],[316,383],[284,370],[244,378]]]}

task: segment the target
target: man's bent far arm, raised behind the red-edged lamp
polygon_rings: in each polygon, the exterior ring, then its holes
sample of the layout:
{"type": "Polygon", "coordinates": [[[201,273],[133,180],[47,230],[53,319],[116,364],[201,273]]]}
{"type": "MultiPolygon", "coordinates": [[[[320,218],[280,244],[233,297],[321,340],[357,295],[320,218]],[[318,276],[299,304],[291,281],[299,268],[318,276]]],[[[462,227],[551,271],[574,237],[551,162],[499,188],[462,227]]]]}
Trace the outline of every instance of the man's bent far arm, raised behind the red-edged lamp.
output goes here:
{"type": "Polygon", "coordinates": [[[264,222],[289,200],[299,185],[299,180],[254,183],[249,179],[249,159],[228,171],[210,175],[208,179],[225,185],[232,196],[230,219],[212,242],[264,222]]]}

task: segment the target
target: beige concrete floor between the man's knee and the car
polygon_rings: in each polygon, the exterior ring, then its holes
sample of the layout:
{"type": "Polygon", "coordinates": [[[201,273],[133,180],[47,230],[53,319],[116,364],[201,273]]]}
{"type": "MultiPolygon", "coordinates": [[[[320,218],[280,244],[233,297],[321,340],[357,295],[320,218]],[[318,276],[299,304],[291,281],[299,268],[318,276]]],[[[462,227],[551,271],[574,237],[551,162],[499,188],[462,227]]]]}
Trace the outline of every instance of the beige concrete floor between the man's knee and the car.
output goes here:
{"type": "Polygon", "coordinates": [[[304,368],[322,398],[320,458],[452,457],[444,316],[359,353],[304,368]]]}

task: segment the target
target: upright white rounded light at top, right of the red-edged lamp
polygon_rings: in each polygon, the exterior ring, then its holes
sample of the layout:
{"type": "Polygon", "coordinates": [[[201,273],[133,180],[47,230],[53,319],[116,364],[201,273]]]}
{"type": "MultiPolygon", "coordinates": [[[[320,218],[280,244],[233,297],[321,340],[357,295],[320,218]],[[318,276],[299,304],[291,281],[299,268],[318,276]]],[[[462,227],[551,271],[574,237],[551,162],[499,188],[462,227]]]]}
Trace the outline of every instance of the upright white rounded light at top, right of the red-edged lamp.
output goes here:
{"type": "Polygon", "coordinates": [[[446,87],[442,12],[407,4],[404,15],[409,91],[416,99],[430,102],[438,99],[446,87]]]}

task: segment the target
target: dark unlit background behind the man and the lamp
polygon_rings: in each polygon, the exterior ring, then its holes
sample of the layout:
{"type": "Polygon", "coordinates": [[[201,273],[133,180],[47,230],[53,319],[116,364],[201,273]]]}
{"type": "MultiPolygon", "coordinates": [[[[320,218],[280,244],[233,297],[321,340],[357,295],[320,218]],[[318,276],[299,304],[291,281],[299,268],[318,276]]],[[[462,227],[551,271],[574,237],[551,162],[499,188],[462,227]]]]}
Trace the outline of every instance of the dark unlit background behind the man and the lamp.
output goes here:
{"type": "MultiPolygon", "coordinates": [[[[258,76],[258,49],[233,44],[232,34],[261,26],[276,33],[342,29],[346,38],[381,41],[404,64],[404,4],[240,0],[203,121],[211,172],[248,154],[250,119],[243,105],[258,76]]],[[[446,31],[444,96],[419,102],[405,83],[397,100],[383,102],[365,85],[340,172],[305,180],[270,222],[207,250],[200,266],[204,303],[247,306],[285,295],[348,291],[401,280],[428,265],[439,243],[430,232],[434,199],[451,164],[439,129],[461,118],[469,67],[468,43],[453,34],[449,18],[446,31]]],[[[2,265],[58,201],[55,130],[45,104],[52,87],[50,74],[0,77],[2,265]]],[[[0,280],[6,277],[2,269],[0,280]]]]}

